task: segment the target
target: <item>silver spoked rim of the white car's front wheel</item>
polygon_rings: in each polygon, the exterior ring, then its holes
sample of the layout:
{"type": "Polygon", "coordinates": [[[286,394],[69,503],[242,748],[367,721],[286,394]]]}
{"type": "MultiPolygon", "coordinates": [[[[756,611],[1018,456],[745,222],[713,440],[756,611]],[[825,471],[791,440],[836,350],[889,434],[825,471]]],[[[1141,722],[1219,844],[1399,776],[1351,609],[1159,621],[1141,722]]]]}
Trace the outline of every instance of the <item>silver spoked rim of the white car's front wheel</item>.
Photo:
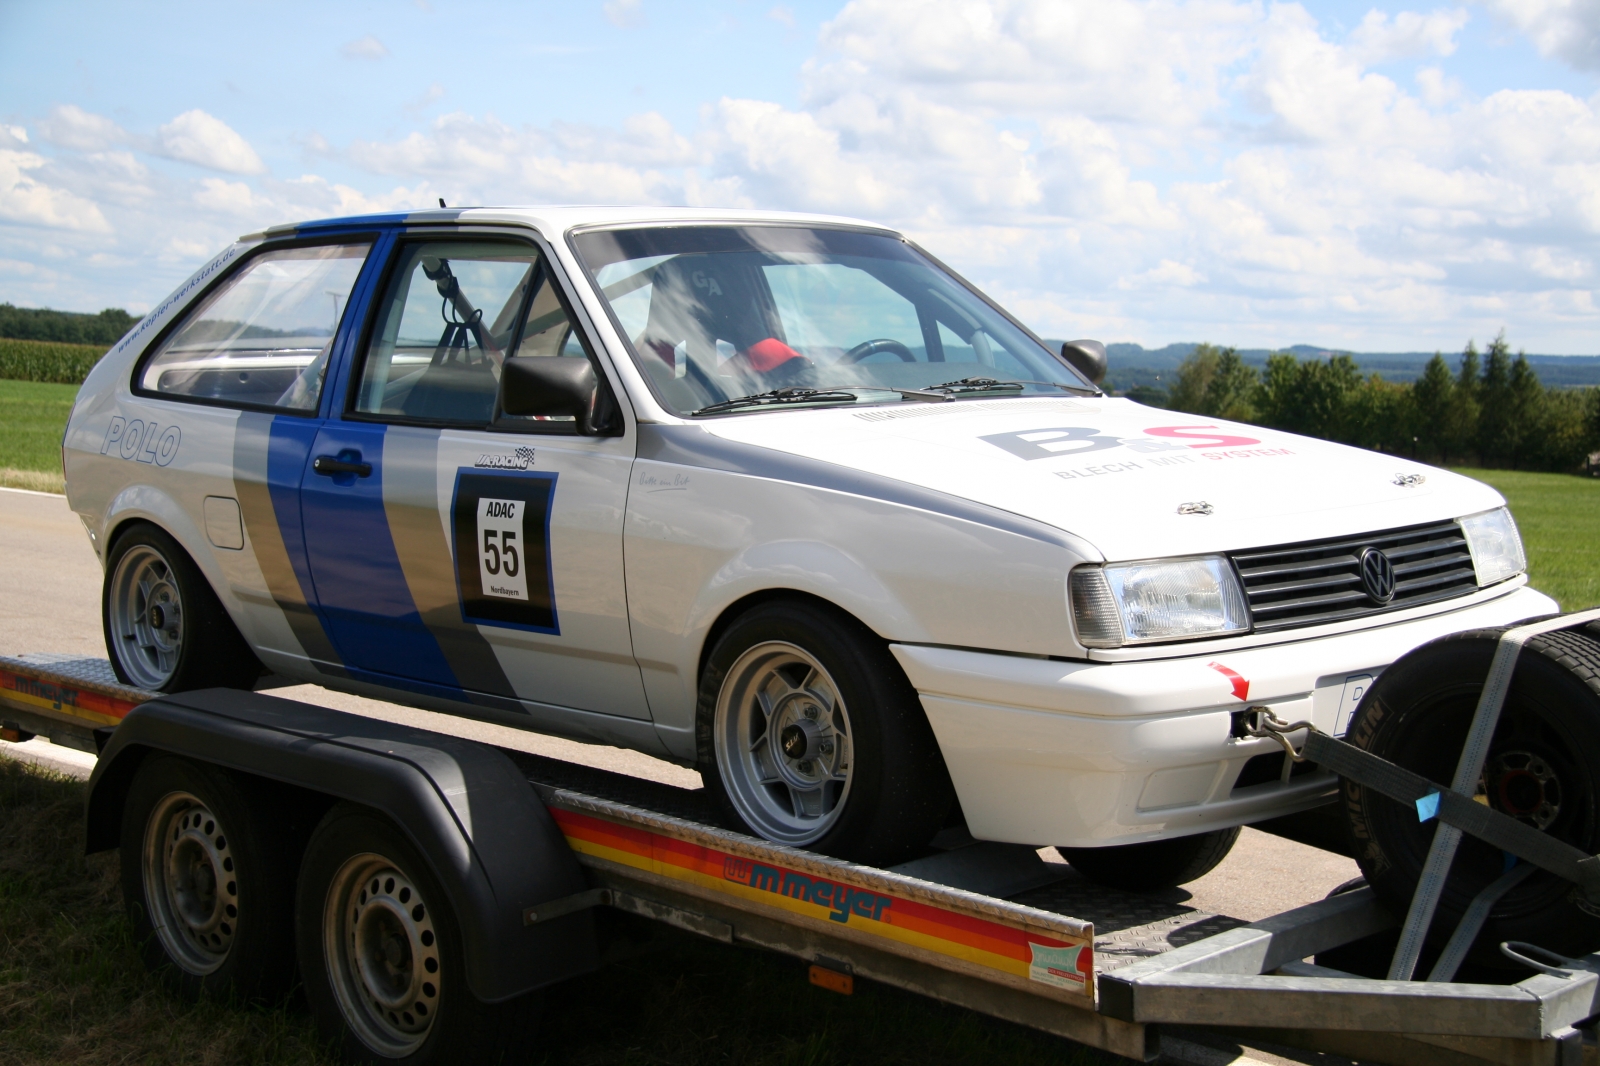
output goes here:
{"type": "Polygon", "coordinates": [[[854,776],[850,714],[805,648],[771,640],[741,655],[717,695],[717,768],[746,824],[778,844],[827,836],[854,776]]]}

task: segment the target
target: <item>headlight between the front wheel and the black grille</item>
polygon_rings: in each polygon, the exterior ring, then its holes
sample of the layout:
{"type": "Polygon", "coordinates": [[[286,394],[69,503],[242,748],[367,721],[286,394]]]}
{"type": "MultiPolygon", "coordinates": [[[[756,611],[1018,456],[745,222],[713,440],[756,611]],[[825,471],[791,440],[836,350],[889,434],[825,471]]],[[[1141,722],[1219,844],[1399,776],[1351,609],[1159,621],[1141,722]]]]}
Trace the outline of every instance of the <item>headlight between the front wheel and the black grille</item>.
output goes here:
{"type": "Polygon", "coordinates": [[[1072,619],[1088,648],[1250,631],[1250,607],[1222,555],[1072,571],[1072,619]]]}

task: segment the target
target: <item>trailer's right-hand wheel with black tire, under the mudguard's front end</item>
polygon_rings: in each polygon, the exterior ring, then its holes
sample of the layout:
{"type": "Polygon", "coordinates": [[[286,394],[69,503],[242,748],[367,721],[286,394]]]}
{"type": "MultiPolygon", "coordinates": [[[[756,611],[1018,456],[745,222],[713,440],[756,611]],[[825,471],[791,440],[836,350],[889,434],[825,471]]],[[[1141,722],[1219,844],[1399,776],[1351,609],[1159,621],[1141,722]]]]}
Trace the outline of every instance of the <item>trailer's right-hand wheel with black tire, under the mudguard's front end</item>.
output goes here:
{"type": "Polygon", "coordinates": [[[541,996],[483,1004],[443,888],[387,818],[339,804],[301,863],[294,940],[323,1039],[352,1063],[512,1063],[541,996]]]}

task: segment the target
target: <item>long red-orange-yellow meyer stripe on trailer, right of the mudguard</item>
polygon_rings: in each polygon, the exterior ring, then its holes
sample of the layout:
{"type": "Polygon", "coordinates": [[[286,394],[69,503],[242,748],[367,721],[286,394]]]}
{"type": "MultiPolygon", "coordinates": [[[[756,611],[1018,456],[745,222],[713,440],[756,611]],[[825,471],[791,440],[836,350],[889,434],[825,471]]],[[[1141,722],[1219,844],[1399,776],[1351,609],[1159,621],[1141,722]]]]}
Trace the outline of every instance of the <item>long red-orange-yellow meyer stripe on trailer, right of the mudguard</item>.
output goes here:
{"type": "Polygon", "coordinates": [[[1093,996],[1090,938],[1043,936],[885,892],[885,887],[843,884],[560,807],[552,807],[550,815],[579,855],[1093,996]]]}

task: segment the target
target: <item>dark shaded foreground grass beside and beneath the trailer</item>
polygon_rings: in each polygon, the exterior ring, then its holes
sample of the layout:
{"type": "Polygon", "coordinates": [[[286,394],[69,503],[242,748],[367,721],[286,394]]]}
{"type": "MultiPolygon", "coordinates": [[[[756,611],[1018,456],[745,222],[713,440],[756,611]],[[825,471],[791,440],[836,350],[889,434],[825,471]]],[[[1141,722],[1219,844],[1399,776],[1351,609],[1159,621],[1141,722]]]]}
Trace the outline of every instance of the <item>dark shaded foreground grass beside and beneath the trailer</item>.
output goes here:
{"type": "MultiPolygon", "coordinates": [[[[0,1063],[333,1060],[306,1008],[184,1004],[139,964],[117,856],[83,856],[85,784],[0,757],[0,1063]]],[[[547,994],[530,1063],[1110,1066],[1107,1055],[893,988],[813,988],[794,959],[664,930],[547,994]]],[[[1115,1060],[1122,1061],[1122,1060],[1115,1060]]]]}

